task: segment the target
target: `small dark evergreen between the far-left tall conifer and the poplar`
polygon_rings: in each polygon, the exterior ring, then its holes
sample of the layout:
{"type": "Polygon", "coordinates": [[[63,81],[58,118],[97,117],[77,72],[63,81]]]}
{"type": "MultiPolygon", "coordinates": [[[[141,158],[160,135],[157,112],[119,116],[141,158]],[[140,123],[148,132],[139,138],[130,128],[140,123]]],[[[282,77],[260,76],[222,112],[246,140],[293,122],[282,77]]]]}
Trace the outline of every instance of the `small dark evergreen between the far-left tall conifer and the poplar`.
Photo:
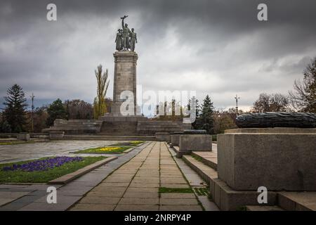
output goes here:
{"type": "Polygon", "coordinates": [[[65,105],[62,104],[62,101],[59,98],[48,106],[47,113],[47,126],[53,125],[56,119],[67,119],[67,110],[65,108],[65,105]]]}

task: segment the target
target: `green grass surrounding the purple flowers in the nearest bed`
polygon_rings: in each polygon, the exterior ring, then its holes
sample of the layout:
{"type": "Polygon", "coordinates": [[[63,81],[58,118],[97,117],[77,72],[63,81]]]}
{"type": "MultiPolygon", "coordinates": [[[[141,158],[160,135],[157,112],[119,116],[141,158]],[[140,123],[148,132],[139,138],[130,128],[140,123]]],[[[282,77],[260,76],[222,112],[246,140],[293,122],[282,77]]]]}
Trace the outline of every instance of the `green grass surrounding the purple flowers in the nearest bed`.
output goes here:
{"type": "MultiPolygon", "coordinates": [[[[54,167],[53,169],[48,169],[44,171],[21,171],[20,169],[15,171],[4,171],[4,167],[12,167],[13,165],[23,165],[27,162],[35,162],[37,160],[28,160],[23,162],[11,162],[0,165],[0,184],[2,183],[46,183],[53,179],[56,179],[65,174],[70,174],[72,172],[91,165],[94,162],[104,160],[106,157],[83,157],[83,160],[77,162],[66,162],[60,167],[54,167]]],[[[39,160],[46,160],[49,158],[41,158],[39,160]]]]}

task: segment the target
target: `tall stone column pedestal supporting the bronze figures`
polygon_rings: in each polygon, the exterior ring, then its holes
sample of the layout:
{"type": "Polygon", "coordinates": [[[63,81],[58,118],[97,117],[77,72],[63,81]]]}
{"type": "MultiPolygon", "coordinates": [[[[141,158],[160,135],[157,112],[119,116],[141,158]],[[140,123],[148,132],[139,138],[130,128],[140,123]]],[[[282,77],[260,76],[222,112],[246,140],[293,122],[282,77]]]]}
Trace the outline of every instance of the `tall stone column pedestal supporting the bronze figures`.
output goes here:
{"type": "Polygon", "coordinates": [[[134,104],[133,108],[129,110],[129,115],[136,115],[137,101],[136,101],[136,65],[138,55],[133,51],[117,51],[114,56],[114,87],[113,87],[113,103],[111,113],[120,115],[121,103],[126,101],[126,95],[121,98],[124,92],[131,98],[134,104]],[[128,91],[128,92],[126,92],[128,91]]]}

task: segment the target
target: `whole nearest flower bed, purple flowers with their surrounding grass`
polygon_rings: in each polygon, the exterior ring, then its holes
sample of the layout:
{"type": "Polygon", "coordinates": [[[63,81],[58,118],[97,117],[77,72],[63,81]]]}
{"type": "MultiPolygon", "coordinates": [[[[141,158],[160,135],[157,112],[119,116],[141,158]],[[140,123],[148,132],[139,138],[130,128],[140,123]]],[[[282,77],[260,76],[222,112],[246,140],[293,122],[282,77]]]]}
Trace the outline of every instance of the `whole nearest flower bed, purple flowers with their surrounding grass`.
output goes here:
{"type": "Polygon", "coordinates": [[[0,164],[0,184],[46,183],[106,157],[53,157],[0,164]]]}

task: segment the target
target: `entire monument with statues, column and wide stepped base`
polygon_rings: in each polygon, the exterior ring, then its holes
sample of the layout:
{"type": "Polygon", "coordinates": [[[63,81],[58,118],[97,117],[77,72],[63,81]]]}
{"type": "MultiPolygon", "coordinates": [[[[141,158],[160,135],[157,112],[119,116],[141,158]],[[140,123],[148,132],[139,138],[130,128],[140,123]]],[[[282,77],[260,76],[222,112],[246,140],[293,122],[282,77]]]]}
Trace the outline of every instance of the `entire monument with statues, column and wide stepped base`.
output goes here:
{"type": "MultiPolygon", "coordinates": [[[[150,120],[140,113],[136,99],[136,68],[138,43],[136,32],[124,23],[127,15],[121,17],[121,28],[115,38],[114,86],[111,112],[99,120],[55,120],[54,126],[44,131],[64,131],[70,134],[96,134],[98,136],[152,136],[159,132],[170,133],[190,129],[191,124],[182,121],[150,120]]],[[[71,137],[74,139],[74,136],[71,137]]],[[[91,136],[90,136],[91,138],[91,136]]]]}

